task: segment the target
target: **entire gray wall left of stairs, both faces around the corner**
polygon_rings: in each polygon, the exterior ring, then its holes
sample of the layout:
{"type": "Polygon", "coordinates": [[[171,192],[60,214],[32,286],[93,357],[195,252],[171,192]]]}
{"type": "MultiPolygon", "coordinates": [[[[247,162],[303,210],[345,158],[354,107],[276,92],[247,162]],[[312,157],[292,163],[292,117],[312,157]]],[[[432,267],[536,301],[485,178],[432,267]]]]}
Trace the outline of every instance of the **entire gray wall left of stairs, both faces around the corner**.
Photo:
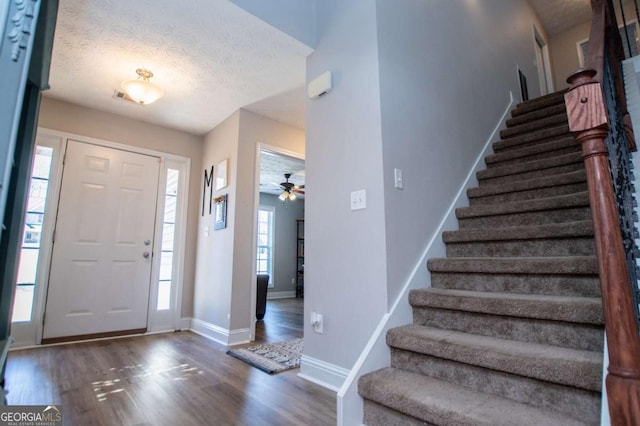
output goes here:
{"type": "Polygon", "coordinates": [[[325,325],[320,335],[305,324],[305,356],[351,368],[509,91],[519,96],[517,66],[538,95],[533,24],[541,26],[525,0],[323,0],[317,12],[307,79],[331,70],[334,88],[307,101],[305,309],[325,325]],[[403,191],[393,188],[395,167],[403,191]],[[367,209],[350,211],[358,189],[367,209]]]}

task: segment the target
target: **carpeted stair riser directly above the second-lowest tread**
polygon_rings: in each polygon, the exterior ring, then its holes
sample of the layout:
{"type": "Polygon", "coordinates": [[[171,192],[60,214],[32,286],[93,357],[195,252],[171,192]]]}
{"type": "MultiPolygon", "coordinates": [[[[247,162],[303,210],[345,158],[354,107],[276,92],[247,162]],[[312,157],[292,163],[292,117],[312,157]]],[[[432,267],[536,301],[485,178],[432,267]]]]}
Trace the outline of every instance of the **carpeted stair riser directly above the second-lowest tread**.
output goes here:
{"type": "Polygon", "coordinates": [[[413,323],[445,330],[589,351],[602,351],[604,333],[602,327],[590,324],[535,320],[429,307],[414,307],[413,323]]]}

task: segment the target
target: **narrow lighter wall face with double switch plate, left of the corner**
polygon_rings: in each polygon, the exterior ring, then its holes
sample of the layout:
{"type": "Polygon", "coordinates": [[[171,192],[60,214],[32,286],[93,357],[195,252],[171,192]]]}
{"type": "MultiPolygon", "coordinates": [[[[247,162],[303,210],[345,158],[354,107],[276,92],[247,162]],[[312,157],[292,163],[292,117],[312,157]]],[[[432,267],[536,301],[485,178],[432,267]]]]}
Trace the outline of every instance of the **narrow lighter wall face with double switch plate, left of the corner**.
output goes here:
{"type": "MultiPolygon", "coordinates": [[[[351,368],[387,307],[376,7],[322,0],[317,13],[307,81],[331,71],[334,87],[306,105],[305,312],[324,315],[324,334],[305,321],[304,354],[351,368]],[[360,189],[367,209],[351,211],[360,189]]],[[[301,373],[317,377],[304,358],[301,373]]]]}

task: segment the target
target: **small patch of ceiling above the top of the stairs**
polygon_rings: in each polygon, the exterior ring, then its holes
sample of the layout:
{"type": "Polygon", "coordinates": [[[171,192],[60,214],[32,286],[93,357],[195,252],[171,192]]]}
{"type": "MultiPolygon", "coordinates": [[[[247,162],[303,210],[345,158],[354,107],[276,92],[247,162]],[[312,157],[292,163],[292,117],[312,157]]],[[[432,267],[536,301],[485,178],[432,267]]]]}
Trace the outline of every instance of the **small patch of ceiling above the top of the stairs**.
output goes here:
{"type": "Polygon", "coordinates": [[[591,19],[589,0],[529,0],[549,37],[591,19]]]}

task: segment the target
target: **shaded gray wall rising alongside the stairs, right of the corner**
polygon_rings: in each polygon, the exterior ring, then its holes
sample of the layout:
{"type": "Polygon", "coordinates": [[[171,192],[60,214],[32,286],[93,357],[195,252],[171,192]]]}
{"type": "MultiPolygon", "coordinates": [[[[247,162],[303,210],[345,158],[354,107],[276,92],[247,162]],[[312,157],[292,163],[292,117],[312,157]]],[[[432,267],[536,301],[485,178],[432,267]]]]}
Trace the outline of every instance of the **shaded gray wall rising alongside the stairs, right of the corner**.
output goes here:
{"type": "Polygon", "coordinates": [[[539,96],[524,0],[377,1],[387,242],[393,303],[509,101],[516,67],[539,96]],[[498,6],[499,3],[499,7],[498,6]],[[455,22],[455,25],[452,25],[455,22]],[[403,170],[404,190],[393,169],[403,170]]]}

